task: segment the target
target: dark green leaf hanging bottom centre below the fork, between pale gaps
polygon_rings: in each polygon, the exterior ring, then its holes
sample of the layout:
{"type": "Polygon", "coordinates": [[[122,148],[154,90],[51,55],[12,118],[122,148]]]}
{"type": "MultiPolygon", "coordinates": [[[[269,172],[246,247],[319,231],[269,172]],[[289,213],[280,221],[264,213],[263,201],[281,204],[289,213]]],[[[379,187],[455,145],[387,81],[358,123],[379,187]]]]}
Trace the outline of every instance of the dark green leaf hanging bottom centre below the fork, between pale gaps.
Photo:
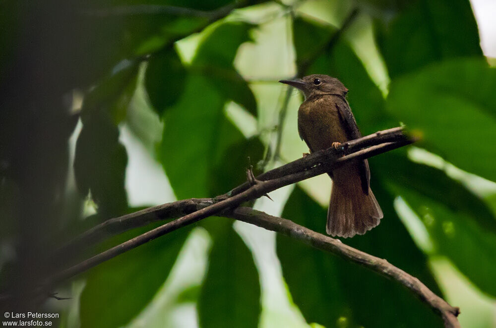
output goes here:
{"type": "Polygon", "coordinates": [[[258,327],[260,283],[251,253],[231,223],[217,232],[198,300],[200,327],[258,327]]]}

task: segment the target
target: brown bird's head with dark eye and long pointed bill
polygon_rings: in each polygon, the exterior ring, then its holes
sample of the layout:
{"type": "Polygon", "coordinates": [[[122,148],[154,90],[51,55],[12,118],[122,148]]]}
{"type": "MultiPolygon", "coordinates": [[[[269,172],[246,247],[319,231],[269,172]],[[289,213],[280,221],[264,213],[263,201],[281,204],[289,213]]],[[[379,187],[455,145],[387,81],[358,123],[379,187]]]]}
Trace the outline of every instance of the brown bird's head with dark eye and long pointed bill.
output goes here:
{"type": "Polygon", "coordinates": [[[338,95],[344,97],[348,93],[348,89],[346,89],[341,81],[335,77],[323,74],[312,74],[301,79],[281,80],[279,82],[300,89],[305,99],[320,95],[338,95]]]}

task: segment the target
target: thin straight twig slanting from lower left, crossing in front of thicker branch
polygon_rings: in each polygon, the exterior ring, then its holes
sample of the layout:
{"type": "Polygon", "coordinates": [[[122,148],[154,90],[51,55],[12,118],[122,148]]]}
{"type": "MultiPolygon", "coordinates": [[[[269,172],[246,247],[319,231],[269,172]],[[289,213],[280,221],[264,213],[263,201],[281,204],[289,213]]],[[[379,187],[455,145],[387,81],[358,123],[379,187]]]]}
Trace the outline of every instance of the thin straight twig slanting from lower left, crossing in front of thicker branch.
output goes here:
{"type": "MultiPolygon", "coordinates": [[[[365,140],[366,142],[371,142],[370,138],[366,137],[365,140]]],[[[355,142],[352,146],[348,147],[348,150],[354,149],[358,151],[355,151],[354,153],[343,157],[340,157],[339,152],[332,147],[325,151],[314,153],[312,154],[314,156],[309,155],[305,158],[305,159],[310,158],[309,160],[307,160],[309,161],[309,163],[310,161],[313,161],[312,166],[310,168],[304,166],[302,168],[303,170],[297,171],[295,173],[289,173],[279,178],[274,178],[271,180],[266,180],[266,181],[260,180],[259,183],[252,186],[248,186],[246,190],[239,192],[237,194],[231,194],[230,197],[223,195],[221,197],[215,198],[214,200],[217,202],[214,202],[210,206],[200,209],[191,214],[188,214],[180,219],[176,219],[172,222],[168,222],[150,231],[147,231],[137,237],[125,241],[120,245],[112,247],[79,264],[76,264],[73,267],[65,269],[62,272],[57,273],[51,278],[49,278],[46,284],[48,286],[52,286],[62,280],[65,280],[78,273],[82,273],[88,269],[91,269],[102,262],[110,260],[150,240],[165,235],[169,232],[175,231],[186,225],[197,222],[201,219],[205,219],[209,216],[220,214],[222,211],[226,209],[236,208],[237,206],[241,205],[243,202],[259,198],[264,194],[271,192],[273,190],[331,171],[332,169],[335,169],[345,164],[346,162],[354,161],[354,160],[363,160],[371,156],[375,156],[387,152],[389,150],[399,148],[407,144],[411,144],[412,142],[413,142],[412,140],[404,138],[404,140],[402,141],[381,143],[362,150],[359,150],[360,148],[358,145],[360,143],[355,142]],[[315,161],[316,158],[319,158],[320,161],[315,161]]]]}

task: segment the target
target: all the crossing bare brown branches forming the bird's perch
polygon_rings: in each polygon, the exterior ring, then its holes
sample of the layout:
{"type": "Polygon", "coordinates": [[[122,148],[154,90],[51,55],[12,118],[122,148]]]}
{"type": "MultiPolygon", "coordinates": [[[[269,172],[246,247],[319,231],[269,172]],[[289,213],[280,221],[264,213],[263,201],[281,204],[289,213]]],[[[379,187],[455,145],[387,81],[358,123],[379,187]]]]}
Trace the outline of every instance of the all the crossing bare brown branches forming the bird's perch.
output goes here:
{"type": "MultiPolygon", "coordinates": [[[[263,194],[285,185],[328,172],[349,161],[366,159],[411,144],[412,142],[413,140],[409,139],[403,133],[401,127],[379,131],[372,135],[344,143],[338,150],[329,148],[267,171],[257,177],[254,185],[250,186],[248,183],[245,183],[227,194],[216,198],[182,200],[107,220],[81,234],[69,246],[87,245],[87,243],[98,242],[109,234],[120,233],[152,221],[181,216],[179,219],[152,229],[57,273],[46,281],[45,288],[50,288],[64,279],[82,273],[127,250],[133,249],[180,227],[211,215],[220,215],[255,224],[298,239],[315,248],[336,254],[348,261],[358,263],[376,273],[396,280],[410,289],[420,300],[428,304],[435,313],[439,314],[444,320],[445,327],[459,328],[460,325],[456,318],[460,312],[458,308],[450,306],[442,298],[435,295],[419,279],[389,264],[386,260],[354,249],[343,244],[338,239],[319,234],[290,220],[273,217],[251,208],[239,207],[245,201],[261,197],[263,194]],[[346,155],[343,156],[343,154],[346,155]]],[[[64,249],[68,250],[69,248],[64,249]]]]}

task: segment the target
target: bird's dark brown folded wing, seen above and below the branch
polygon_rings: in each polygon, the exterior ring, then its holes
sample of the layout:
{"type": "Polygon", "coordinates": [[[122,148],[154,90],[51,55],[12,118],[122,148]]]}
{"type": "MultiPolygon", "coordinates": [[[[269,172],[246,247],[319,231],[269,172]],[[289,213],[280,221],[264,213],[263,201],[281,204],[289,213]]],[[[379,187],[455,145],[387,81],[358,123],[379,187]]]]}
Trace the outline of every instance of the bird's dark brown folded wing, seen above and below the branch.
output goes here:
{"type": "MultiPolygon", "coordinates": [[[[362,133],[358,129],[357,121],[355,116],[351,112],[350,105],[346,99],[339,97],[340,101],[336,101],[336,109],[339,113],[339,118],[341,120],[342,126],[345,128],[345,133],[348,140],[358,139],[362,137],[362,133]]],[[[369,194],[371,172],[369,169],[369,162],[364,160],[359,165],[360,169],[360,179],[362,180],[362,190],[366,195],[369,194]]]]}

